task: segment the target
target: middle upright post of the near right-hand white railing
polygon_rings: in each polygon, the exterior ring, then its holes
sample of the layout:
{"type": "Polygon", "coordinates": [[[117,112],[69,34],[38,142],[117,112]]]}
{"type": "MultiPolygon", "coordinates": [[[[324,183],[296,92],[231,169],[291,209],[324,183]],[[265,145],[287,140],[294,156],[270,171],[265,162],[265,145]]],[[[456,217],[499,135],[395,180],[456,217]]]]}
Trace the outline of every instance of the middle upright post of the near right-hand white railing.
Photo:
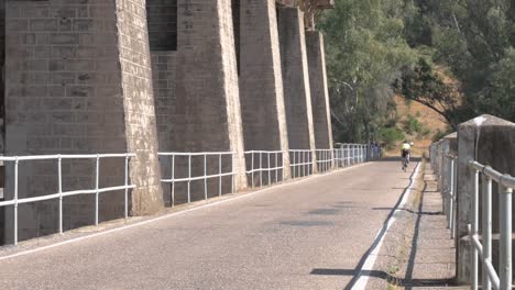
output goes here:
{"type": "Polygon", "coordinates": [[[483,175],[482,182],[482,236],[483,236],[483,267],[482,281],[483,290],[490,290],[490,277],[486,270],[486,261],[492,263],[492,179],[483,175]]]}

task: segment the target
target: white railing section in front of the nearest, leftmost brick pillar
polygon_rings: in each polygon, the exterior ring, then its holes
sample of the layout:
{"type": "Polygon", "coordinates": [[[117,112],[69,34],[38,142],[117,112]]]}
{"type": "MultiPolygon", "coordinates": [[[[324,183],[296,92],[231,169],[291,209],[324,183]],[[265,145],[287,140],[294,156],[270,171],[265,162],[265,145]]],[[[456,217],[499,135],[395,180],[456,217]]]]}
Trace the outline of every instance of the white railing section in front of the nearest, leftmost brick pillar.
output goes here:
{"type": "Polygon", "coordinates": [[[134,188],[134,185],[129,185],[129,159],[134,157],[135,154],[85,154],[85,155],[33,155],[33,156],[2,156],[0,160],[6,163],[14,164],[14,177],[13,177],[13,198],[1,201],[1,207],[13,207],[13,244],[18,245],[18,205],[33,203],[39,201],[46,201],[58,199],[58,232],[63,233],[63,199],[66,197],[78,196],[78,194],[95,194],[95,224],[98,225],[98,209],[99,209],[99,196],[100,193],[124,190],[124,217],[128,216],[128,194],[129,189],[134,188]],[[124,158],[124,185],[117,187],[105,187],[100,188],[99,176],[100,176],[100,161],[105,158],[124,158]],[[63,191],[63,159],[92,159],[95,161],[95,188],[84,190],[72,190],[63,191]],[[31,197],[31,198],[19,198],[19,169],[20,165],[25,161],[33,160],[56,160],[57,167],[57,187],[56,193],[31,197]]]}

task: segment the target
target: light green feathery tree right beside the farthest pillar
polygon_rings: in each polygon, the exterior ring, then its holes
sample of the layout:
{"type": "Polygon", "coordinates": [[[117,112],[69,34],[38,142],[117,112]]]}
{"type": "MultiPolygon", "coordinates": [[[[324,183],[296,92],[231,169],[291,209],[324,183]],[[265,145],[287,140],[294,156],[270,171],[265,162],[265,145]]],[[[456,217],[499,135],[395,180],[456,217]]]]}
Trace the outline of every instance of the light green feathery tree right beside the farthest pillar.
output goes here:
{"type": "Polygon", "coordinates": [[[317,27],[326,38],[335,140],[376,141],[395,111],[392,81],[416,59],[404,0],[337,0],[317,27]]]}

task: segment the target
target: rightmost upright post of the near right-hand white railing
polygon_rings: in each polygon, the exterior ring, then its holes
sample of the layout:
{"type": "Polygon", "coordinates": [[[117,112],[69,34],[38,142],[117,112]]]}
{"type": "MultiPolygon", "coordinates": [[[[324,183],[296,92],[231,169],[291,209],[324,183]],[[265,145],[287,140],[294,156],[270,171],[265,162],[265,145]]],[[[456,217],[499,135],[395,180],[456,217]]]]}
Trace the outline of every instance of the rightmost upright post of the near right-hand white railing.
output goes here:
{"type": "Polygon", "coordinates": [[[498,185],[500,286],[503,290],[512,289],[512,193],[513,189],[498,185]]]}

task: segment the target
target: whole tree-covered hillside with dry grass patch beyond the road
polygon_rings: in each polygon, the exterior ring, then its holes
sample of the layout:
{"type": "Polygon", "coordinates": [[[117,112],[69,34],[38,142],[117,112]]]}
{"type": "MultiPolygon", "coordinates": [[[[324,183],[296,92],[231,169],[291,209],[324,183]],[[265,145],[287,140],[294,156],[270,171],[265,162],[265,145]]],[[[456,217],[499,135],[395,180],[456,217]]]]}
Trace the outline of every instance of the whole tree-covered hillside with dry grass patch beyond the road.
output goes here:
{"type": "Polygon", "coordinates": [[[335,141],[395,148],[482,113],[515,121],[514,12],[509,0],[336,0],[318,21],[335,141]]]}

